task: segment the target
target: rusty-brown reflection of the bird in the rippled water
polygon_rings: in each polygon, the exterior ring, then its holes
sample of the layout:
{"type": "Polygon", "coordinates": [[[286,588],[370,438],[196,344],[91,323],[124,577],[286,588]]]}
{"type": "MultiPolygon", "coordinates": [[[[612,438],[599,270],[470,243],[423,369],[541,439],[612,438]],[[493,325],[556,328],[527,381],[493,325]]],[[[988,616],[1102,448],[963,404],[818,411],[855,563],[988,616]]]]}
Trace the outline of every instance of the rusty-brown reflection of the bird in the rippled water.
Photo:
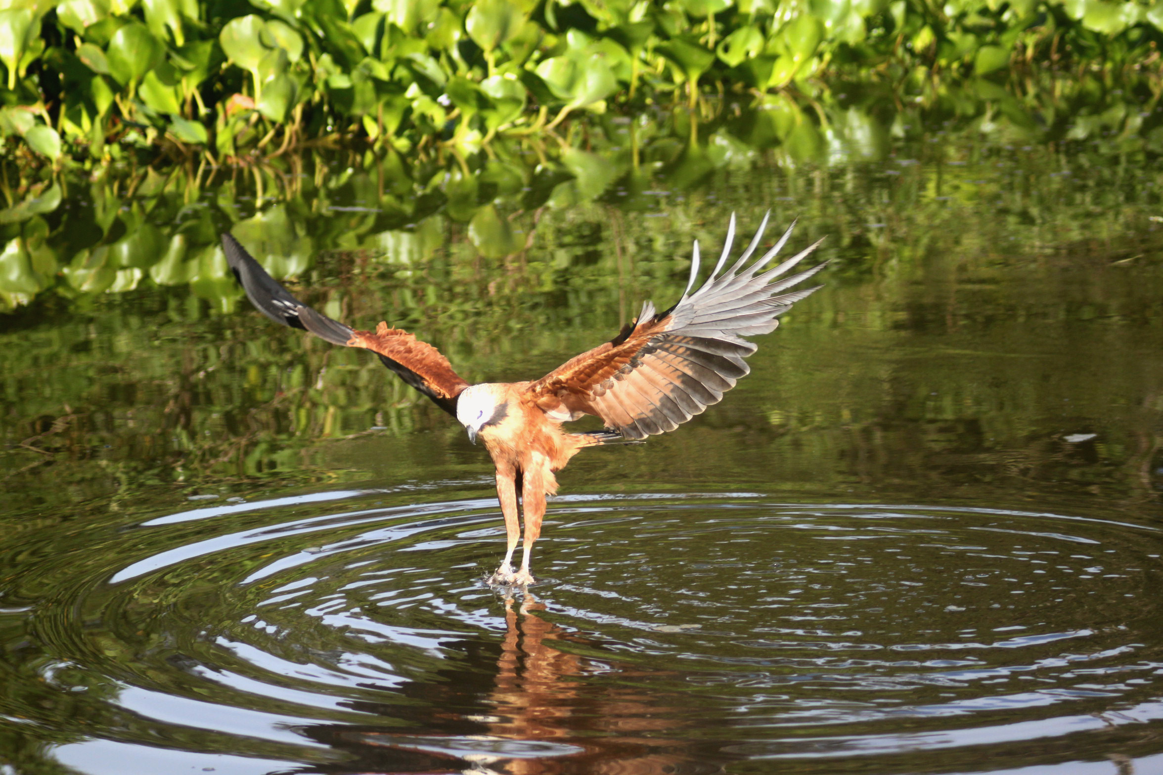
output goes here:
{"type": "MultiPolygon", "coordinates": [[[[348,754],[320,772],[497,773],[504,775],[714,775],[726,759],[719,746],[684,740],[693,730],[658,693],[619,687],[609,673],[644,677],[638,668],[568,653],[563,632],[537,616],[544,607],[526,594],[505,601],[506,632],[497,654],[481,641],[459,641],[468,661],[437,680],[395,688],[405,704],[355,703],[352,708],[409,718],[414,729],[319,725],[308,737],[348,754]],[[486,662],[487,660],[487,662],[486,662]],[[481,669],[490,668],[492,676],[481,669]],[[605,674],[601,684],[586,681],[605,674]],[[414,710],[409,708],[415,703],[414,710]]],[[[454,646],[456,648],[457,646],[454,646]]]]}

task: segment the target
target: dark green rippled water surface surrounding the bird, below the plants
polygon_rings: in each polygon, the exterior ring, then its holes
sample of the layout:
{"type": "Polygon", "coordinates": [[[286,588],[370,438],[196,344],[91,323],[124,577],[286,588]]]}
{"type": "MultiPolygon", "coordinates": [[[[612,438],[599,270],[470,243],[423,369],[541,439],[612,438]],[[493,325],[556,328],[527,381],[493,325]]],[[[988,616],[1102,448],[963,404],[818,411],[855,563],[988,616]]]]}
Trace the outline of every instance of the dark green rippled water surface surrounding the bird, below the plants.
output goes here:
{"type": "Polygon", "coordinates": [[[635,167],[614,124],[429,200],[340,157],[17,221],[70,268],[0,317],[0,773],[1163,769],[1163,164],[846,115],[806,157],[635,167]],[[514,601],[485,452],[214,274],[234,228],[329,314],[528,379],[769,208],[827,287],[721,404],[575,459],[514,601]]]}

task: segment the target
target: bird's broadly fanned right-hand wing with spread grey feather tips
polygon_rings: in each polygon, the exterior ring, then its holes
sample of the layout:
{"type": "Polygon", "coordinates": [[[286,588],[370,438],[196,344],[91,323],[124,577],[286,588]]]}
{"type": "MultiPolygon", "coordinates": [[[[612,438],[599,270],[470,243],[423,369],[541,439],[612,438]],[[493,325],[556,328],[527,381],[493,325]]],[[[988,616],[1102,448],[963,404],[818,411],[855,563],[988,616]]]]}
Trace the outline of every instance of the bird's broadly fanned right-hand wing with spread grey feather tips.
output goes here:
{"type": "Polygon", "coordinates": [[[820,286],[784,292],[827,265],[825,261],[777,279],[815,250],[816,242],[779,266],[764,270],[787,242],[795,227],[792,223],[771,250],[744,266],[766,225],[764,216],[743,256],[715,277],[735,238],[732,215],[722,256],[698,290],[691,293],[699,274],[695,242],[691,280],[677,304],[655,314],[654,304],[647,302],[633,328],[530,383],[527,395],[556,419],[597,415],[607,428],[632,439],[672,431],[718,403],[750,371],[743,359],[756,345],[742,337],[773,331],[779,325],[777,317],[820,286]]]}

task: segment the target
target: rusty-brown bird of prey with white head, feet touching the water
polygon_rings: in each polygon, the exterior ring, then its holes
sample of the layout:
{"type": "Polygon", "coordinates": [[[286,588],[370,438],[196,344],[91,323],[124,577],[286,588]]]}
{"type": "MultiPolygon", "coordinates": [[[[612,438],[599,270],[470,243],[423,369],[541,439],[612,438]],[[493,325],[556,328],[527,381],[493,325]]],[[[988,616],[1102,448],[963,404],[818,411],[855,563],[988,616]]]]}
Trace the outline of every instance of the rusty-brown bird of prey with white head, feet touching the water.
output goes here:
{"type": "Polygon", "coordinates": [[[743,337],[773,331],[780,315],[820,287],[789,290],[827,261],[782,277],[811,254],[819,242],[766,268],[787,242],[794,223],[770,250],[748,264],[766,224],[764,216],[743,254],[720,274],[735,238],[732,215],[719,263],[692,293],[699,277],[695,242],[690,281],[670,309],[657,313],[651,302],[645,302],[638,317],[616,337],[538,380],[480,385],[469,385],[436,347],[412,333],[388,328],[387,323],[380,323],[374,331],[358,331],[305,306],[231,235],[222,235],[222,247],[250,301],[269,318],[331,344],[371,350],[405,382],[454,415],[468,429],[473,444],[478,438],[484,442],[497,466],[497,496],[508,537],[505,560],[490,583],[525,586],[534,582],[529,558],[541,534],[545,496],[557,491],[554,473],[582,447],[672,431],[718,403],[750,371],[743,359],[756,351],[756,345],[743,337]],[[562,423],[583,415],[601,418],[606,430],[562,430],[562,423]],[[523,555],[521,567],[514,572],[521,516],[523,555]]]}

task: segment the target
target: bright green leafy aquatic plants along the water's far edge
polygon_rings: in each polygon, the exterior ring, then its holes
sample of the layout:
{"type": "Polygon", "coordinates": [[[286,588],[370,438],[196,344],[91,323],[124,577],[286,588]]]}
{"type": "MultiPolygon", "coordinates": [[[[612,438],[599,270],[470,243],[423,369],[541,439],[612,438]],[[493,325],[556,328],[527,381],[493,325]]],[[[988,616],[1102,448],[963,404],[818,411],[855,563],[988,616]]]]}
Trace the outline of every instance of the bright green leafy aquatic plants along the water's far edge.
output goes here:
{"type": "Polygon", "coordinates": [[[26,163],[356,137],[466,155],[579,113],[814,98],[820,79],[1154,72],[1161,26],[1134,0],[12,0],[0,135],[26,163]]]}

